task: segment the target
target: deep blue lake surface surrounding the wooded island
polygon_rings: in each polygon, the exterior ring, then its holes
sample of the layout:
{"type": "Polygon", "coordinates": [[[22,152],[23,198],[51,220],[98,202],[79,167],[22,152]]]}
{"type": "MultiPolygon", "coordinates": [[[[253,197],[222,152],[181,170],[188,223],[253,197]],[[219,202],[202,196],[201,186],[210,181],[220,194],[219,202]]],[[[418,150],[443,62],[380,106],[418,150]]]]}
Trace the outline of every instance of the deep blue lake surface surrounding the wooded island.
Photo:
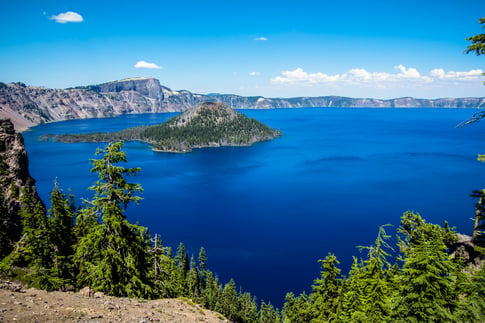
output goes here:
{"type": "MultiPolygon", "coordinates": [[[[403,212],[428,222],[448,220],[470,234],[470,194],[485,187],[483,124],[455,126],[476,110],[275,109],[241,110],[283,137],[252,147],[153,152],[125,143],[132,178],[144,188],[132,221],[159,233],[175,252],[183,242],[195,257],[203,246],[222,282],[278,307],[286,292],[311,288],[318,259],[328,252],[347,274],[356,246],[371,245],[378,227],[394,236],[403,212]]],[[[91,198],[89,159],[97,143],[39,141],[47,133],[115,131],[160,123],[168,114],[75,120],[25,132],[30,171],[47,203],[57,177],[78,200],[91,198]]]]}

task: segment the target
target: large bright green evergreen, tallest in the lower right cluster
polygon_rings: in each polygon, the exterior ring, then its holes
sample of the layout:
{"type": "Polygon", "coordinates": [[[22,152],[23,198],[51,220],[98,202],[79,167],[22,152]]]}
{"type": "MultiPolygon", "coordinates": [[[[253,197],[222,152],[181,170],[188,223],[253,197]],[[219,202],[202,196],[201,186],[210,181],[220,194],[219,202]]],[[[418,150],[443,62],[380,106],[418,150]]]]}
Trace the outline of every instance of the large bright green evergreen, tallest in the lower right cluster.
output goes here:
{"type": "Polygon", "coordinates": [[[400,240],[404,265],[397,278],[400,289],[393,302],[393,320],[453,321],[457,268],[446,253],[442,228],[407,212],[399,232],[404,234],[400,240]]]}

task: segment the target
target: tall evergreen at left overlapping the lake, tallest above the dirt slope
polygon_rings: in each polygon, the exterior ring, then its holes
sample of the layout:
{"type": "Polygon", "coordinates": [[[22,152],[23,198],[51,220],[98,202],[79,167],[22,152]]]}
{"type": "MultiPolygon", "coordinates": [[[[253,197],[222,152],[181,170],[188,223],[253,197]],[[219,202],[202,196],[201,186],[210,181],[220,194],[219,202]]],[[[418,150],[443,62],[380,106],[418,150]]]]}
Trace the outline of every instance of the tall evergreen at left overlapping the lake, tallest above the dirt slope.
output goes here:
{"type": "Polygon", "coordinates": [[[151,295],[150,238],[145,228],[130,224],[123,213],[130,202],[140,200],[135,193],[142,191],[141,186],[125,178],[140,169],[118,166],[127,161],[122,146],[123,142],[110,143],[96,151],[102,158],[91,160],[91,172],[98,173],[98,181],[90,187],[95,196],[84,215],[88,222],[96,215],[99,225],[85,228],[74,258],[81,285],[110,295],[147,298],[151,295]]]}

